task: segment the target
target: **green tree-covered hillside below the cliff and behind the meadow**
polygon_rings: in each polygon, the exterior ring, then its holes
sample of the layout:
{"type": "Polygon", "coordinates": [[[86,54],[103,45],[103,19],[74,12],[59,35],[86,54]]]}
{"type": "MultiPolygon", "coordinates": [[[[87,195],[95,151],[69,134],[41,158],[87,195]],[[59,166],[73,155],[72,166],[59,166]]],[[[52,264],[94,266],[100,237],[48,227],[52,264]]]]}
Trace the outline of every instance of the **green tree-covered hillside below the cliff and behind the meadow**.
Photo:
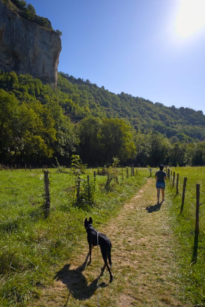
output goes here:
{"type": "Polygon", "coordinates": [[[114,94],[62,72],[57,88],[0,73],[0,163],[204,165],[205,115],[114,94]]]}

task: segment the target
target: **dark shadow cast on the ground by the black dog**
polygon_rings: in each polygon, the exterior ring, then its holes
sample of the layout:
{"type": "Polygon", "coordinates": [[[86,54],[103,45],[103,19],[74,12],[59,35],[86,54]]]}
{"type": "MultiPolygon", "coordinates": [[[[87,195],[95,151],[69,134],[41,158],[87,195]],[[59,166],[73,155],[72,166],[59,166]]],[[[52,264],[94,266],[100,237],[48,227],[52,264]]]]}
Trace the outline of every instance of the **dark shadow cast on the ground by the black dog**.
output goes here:
{"type": "MultiPolygon", "coordinates": [[[[56,273],[54,277],[54,279],[60,280],[62,283],[64,283],[67,286],[69,290],[68,299],[71,293],[75,299],[78,300],[88,299],[94,294],[95,290],[97,289],[98,278],[95,278],[93,282],[91,282],[91,284],[88,285],[87,280],[82,273],[86,267],[88,257],[89,253],[87,254],[87,257],[82,266],[79,266],[75,270],[70,270],[70,264],[66,264],[60,271],[56,273]]],[[[99,284],[99,287],[101,288],[106,286],[107,285],[104,282],[99,284]]]]}

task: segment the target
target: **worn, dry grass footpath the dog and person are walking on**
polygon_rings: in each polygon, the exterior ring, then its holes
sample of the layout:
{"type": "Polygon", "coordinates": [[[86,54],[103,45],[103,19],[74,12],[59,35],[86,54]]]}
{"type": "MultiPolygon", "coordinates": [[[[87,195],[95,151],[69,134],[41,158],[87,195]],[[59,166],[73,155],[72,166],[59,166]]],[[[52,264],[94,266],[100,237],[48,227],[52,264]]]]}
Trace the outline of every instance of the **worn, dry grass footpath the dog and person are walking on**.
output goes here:
{"type": "Polygon", "coordinates": [[[98,230],[112,242],[114,281],[109,283],[105,269],[97,290],[103,259],[95,247],[91,265],[85,265],[88,259],[85,232],[82,245],[56,272],[53,286],[45,289],[41,299],[29,307],[94,307],[98,299],[100,307],[190,306],[180,301],[180,285],[174,282],[177,259],[172,246],[176,243],[169,227],[166,201],[156,204],[153,178],[147,180],[116,218],[98,230]]]}

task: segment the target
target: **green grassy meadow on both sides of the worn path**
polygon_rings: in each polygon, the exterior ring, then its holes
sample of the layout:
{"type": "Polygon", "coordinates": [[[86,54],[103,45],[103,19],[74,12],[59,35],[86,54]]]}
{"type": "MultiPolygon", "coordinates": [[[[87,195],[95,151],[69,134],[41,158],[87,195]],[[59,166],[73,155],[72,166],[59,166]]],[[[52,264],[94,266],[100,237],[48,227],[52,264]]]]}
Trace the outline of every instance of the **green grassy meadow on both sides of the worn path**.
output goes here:
{"type": "MultiPolygon", "coordinates": [[[[205,167],[170,168],[179,173],[179,194],[167,182],[166,204],[170,211],[171,227],[180,244],[179,272],[182,290],[195,304],[204,303],[204,243],[205,243],[205,167]],[[183,179],[187,177],[184,211],[180,214],[183,179]],[[195,240],[195,185],[200,184],[199,236],[197,255],[195,240]],[[196,299],[197,298],[197,299],[196,299]]],[[[153,169],[152,176],[155,171],[153,169]]],[[[96,175],[98,202],[89,212],[73,205],[74,184],[70,169],[65,173],[49,170],[51,211],[44,218],[44,174],[32,171],[2,170],[0,187],[0,306],[26,306],[31,297],[38,297],[42,287],[52,283],[53,272],[66,261],[84,237],[84,219],[92,216],[95,225],[103,224],[118,215],[119,208],[129,200],[150,176],[149,170],[139,168],[135,176],[123,178],[119,185],[112,182],[105,189],[106,176],[96,175]]],[[[90,175],[96,169],[86,169],[90,175]]],[[[119,170],[120,171],[120,170],[119,170]]],[[[130,173],[129,173],[130,175],[130,173]]],[[[176,180],[175,180],[176,185],[176,180]]],[[[156,199],[156,195],[153,195],[156,199]]],[[[174,248],[174,246],[173,246],[174,248]]],[[[201,306],[201,305],[199,305],[201,306]]]]}

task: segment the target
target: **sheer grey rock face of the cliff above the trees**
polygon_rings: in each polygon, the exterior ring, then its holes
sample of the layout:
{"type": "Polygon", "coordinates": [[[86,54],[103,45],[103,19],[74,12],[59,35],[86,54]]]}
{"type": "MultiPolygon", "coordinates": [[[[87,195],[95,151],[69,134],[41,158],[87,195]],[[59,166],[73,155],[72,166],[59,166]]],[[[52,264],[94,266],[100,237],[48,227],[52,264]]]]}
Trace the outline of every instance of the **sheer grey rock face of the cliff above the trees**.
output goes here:
{"type": "Polygon", "coordinates": [[[0,69],[57,84],[59,35],[21,18],[0,0],[0,69]]]}

